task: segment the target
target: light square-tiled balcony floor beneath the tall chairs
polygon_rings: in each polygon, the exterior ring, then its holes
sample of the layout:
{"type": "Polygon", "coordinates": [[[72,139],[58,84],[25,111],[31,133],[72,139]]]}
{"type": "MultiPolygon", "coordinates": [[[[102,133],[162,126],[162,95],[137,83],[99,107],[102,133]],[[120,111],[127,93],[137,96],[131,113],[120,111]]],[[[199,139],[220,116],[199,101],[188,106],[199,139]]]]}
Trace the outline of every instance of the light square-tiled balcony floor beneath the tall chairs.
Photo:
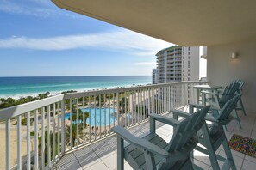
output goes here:
{"type": "MultiPolygon", "coordinates": [[[[242,129],[240,129],[237,121],[234,120],[228,124],[228,132],[226,133],[228,140],[232,135],[238,134],[244,137],[252,137],[256,139],[256,115],[247,112],[247,116],[243,116],[240,113],[240,121],[242,129]]],[[[172,114],[166,115],[172,117],[172,114]]],[[[172,137],[172,126],[165,124],[157,124],[157,133],[164,137],[166,140],[170,140],[172,137]]],[[[129,131],[137,137],[141,137],[149,131],[149,124],[140,124],[129,131]]],[[[237,169],[253,170],[256,169],[256,159],[234,150],[231,150],[234,156],[234,161],[237,169]]],[[[217,154],[225,155],[222,147],[217,150],[217,154]]],[[[86,170],[109,170],[116,169],[116,137],[109,137],[103,141],[93,143],[89,146],[85,146],[82,149],[73,151],[72,153],[65,155],[53,169],[86,169],[86,170]]],[[[210,167],[209,157],[198,151],[195,152],[194,163],[203,169],[212,169],[210,167]]],[[[222,166],[222,161],[220,165],[222,166]]],[[[132,169],[127,162],[124,164],[125,169],[132,169]]]]}

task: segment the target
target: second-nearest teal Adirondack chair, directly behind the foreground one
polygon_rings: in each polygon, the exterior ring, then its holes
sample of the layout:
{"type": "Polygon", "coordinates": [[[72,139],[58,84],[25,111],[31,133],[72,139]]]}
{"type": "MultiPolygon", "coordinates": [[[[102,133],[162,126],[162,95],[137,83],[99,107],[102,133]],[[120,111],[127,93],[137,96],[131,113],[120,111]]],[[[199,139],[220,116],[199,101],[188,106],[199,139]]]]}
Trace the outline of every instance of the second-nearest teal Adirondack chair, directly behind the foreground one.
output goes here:
{"type": "MultiPolygon", "coordinates": [[[[230,113],[234,110],[240,96],[241,94],[236,94],[233,99],[226,102],[222,109],[210,108],[210,113],[206,115],[205,120],[211,122],[211,124],[203,124],[202,131],[198,131],[198,143],[202,144],[206,149],[198,145],[195,149],[209,155],[211,166],[215,170],[220,169],[217,159],[224,161],[224,165],[222,167],[223,170],[230,168],[236,169],[233,156],[228,147],[228,140],[225,136],[223,126],[229,124],[233,119],[230,113]],[[221,146],[221,144],[223,145],[227,159],[215,154],[215,151],[221,146]]],[[[200,109],[203,108],[203,106],[191,104],[190,113],[194,112],[194,108],[200,109]]],[[[178,119],[178,116],[185,117],[177,111],[172,112],[173,118],[178,119]]]]}

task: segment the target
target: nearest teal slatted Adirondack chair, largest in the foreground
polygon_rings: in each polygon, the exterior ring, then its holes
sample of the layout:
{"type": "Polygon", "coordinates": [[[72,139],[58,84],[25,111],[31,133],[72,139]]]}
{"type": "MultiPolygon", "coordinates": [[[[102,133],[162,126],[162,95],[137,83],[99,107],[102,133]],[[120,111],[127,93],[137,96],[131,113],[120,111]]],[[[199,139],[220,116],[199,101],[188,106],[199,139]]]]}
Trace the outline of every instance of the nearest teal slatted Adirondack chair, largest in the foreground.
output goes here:
{"type": "Polygon", "coordinates": [[[197,131],[205,124],[204,117],[210,106],[187,115],[183,121],[150,114],[150,133],[146,137],[135,137],[121,126],[112,128],[117,135],[117,169],[123,170],[124,159],[134,169],[192,169],[190,152],[197,146],[197,131]],[[170,143],[155,132],[156,121],[173,126],[175,130],[170,143]],[[130,143],[124,147],[124,140],[130,143]]]}

